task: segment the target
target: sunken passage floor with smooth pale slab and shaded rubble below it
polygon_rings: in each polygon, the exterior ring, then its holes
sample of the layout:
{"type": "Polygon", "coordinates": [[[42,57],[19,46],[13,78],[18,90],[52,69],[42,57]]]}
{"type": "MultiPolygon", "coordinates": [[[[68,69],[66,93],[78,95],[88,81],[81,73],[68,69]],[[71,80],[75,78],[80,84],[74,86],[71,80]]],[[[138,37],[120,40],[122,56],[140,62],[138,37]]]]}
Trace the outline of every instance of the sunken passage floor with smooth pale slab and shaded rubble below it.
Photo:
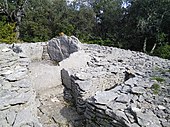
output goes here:
{"type": "Polygon", "coordinates": [[[76,109],[63,99],[60,67],[39,61],[29,66],[33,88],[37,92],[38,118],[44,127],[73,127],[80,118],[76,109]],[[48,79],[48,80],[47,80],[48,79]]]}

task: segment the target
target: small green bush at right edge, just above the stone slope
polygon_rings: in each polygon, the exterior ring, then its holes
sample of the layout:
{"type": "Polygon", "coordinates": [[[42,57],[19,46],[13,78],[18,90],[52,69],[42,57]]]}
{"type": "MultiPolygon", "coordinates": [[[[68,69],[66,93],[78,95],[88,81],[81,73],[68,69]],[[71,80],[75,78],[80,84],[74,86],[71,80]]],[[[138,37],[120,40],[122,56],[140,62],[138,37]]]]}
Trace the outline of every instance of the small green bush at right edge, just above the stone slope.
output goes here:
{"type": "Polygon", "coordinates": [[[170,45],[160,46],[155,50],[154,55],[170,60],[170,45]]]}

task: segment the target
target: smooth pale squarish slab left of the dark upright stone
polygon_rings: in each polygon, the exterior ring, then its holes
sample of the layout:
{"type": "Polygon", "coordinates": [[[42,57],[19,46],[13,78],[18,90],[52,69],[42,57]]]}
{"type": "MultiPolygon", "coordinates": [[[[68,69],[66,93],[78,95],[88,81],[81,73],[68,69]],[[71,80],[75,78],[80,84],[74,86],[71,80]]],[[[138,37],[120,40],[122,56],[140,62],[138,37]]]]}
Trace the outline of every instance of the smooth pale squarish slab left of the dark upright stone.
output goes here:
{"type": "Polygon", "coordinates": [[[36,90],[46,89],[61,84],[58,66],[51,66],[41,62],[31,63],[29,66],[30,77],[36,90]]]}

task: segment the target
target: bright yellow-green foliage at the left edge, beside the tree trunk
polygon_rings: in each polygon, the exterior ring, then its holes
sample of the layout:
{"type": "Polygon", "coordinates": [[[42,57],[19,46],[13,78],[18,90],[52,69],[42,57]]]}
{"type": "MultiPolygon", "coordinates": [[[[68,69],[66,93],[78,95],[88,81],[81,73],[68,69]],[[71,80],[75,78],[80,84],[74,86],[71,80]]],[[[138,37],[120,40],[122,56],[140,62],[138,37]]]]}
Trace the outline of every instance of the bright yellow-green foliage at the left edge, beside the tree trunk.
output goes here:
{"type": "Polygon", "coordinates": [[[5,23],[0,21],[0,43],[17,42],[16,32],[14,32],[15,23],[5,23]]]}

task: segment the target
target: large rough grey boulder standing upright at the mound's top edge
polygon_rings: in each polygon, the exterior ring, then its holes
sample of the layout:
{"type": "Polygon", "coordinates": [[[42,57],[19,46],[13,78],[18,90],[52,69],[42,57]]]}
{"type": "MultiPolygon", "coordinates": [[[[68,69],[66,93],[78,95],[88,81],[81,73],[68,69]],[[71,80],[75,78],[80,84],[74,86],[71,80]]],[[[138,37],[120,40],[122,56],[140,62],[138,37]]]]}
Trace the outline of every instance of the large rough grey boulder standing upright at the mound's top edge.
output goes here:
{"type": "Polygon", "coordinates": [[[70,56],[71,53],[80,49],[80,41],[74,37],[66,35],[53,38],[48,42],[47,51],[50,59],[60,62],[70,56]]]}

